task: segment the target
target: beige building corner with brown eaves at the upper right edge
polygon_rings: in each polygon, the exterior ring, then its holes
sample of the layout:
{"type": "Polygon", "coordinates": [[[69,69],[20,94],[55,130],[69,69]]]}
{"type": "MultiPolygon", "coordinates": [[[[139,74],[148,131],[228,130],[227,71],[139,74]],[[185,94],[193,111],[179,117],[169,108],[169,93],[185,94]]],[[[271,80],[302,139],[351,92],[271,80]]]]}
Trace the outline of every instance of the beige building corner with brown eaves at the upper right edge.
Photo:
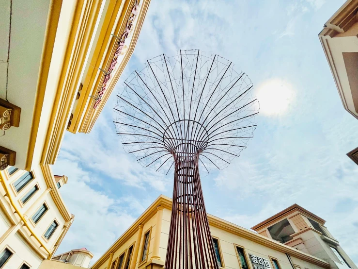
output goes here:
{"type": "MultiPolygon", "coordinates": [[[[318,34],[342,104],[358,119],[358,1],[347,0],[318,34]]],[[[358,165],[358,147],[347,155],[358,165]]]]}

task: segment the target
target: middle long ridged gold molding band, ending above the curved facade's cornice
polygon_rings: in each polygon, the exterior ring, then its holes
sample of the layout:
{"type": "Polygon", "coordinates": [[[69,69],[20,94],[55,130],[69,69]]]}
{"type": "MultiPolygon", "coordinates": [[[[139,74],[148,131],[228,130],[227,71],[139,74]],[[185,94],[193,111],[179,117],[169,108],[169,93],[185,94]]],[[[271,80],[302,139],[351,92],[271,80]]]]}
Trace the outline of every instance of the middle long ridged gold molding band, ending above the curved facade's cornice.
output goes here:
{"type": "Polygon", "coordinates": [[[67,41],[67,49],[56,89],[56,99],[41,158],[42,165],[56,162],[71,115],[72,105],[77,96],[81,72],[86,63],[86,56],[101,10],[101,4],[101,1],[92,0],[78,0],[76,2],[71,21],[72,29],[67,41]]]}

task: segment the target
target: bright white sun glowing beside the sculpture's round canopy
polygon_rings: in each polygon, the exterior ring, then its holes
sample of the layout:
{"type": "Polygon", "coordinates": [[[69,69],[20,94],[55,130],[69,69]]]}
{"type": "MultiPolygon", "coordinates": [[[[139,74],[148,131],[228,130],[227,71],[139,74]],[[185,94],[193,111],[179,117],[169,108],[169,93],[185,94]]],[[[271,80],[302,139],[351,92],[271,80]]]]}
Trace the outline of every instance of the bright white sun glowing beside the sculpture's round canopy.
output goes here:
{"type": "Polygon", "coordinates": [[[260,102],[260,114],[278,116],[288,111],[294,100],[294,90],[284,80],[270,79],[259,85],[257,99],[260,102]]]}

